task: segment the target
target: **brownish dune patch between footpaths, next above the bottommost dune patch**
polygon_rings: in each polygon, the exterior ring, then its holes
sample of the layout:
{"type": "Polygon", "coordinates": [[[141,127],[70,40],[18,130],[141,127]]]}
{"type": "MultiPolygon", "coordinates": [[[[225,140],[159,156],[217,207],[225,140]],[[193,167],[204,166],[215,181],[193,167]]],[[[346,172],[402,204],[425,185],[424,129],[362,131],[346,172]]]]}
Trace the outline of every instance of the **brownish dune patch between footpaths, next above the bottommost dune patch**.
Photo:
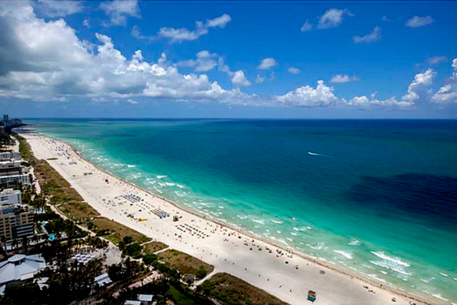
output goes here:
{"type": "MultiPolygon", "coordinates": [[[[202,262],[193,256],[175,249],[169,249],[160,252],[158,256],[161,261],[171,266],[172,268],[178,269],[181,274],[191,273],[194,274],[197,278],[202,278],[199,277],[199,275],[203,275],[202,271],[199,272],[201,268],[206,271],[206,273],[210,273],[214,269],[214,266],[202,262]]],[[[206,273],[203,275],[203,277],[206,276],[206,273]]]]}

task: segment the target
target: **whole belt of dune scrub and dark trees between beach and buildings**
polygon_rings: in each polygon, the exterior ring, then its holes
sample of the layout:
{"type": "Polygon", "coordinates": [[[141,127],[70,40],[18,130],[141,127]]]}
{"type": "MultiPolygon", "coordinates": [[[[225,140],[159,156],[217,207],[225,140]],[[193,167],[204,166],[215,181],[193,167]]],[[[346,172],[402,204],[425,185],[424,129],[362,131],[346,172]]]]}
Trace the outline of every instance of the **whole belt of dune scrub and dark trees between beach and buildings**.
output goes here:
{"type": "MultiPolygon", "coordinates": [[[[46,229],[54,233],[56,240],[50,242],[46,236],[44,242],[36,242],[28,254],[42,253],[52,270],[47,268],[35,277],[49,277],[47,289],[40,290],[37,284],[31,281],[15,286],[8,286],[5,295],[0,296],[0,303],[5,304],[50,304],[50,303],[98,303],[98,304],[123,304],[127,299],[136,299],[137,295],[153,294],[159,304],[166,300],[172,300],[177,304],[213,304],[211,298],[218,299],[223,303],[244,304],[276,304],[284,303],[279,299],[267,294],[265,291],[255,288],[241,279],[229,274],[218,273],[206,280],[197,290],[192,291],[181,281],[181,275],[190,273],[195,278],[204,278],[212,272],[214,267],[197,258],[174,249],[165,250],[159,254],[153,254],[168,246],[161,242],[151,242],[140,232],[121,225],[113,220],[98,217],[99,214],[83,202],[81,196],[63,179],[46,160],[37,160],[31,153],[30,146],[24,138],[16,136],[19,140],[19,150],[30,165],[34,166],[35,174],[42,195],[37,196],[35,190],[23,190],[25,201],[35,207],[46,207],[46,213],[37,214],[36,221],[47,221],[46,229]],[[69,220],[63,220],[59,215],[52,212],[46,206],[46,202],[57,205],[63,213],[69,216],[69,220]],[[96,236],[88,234],[75,225],[75,220],[83,220],[96,236]],[[61,233],[66,233],[65,239],[60,239],[61,233]],[[72,253],[81,246],[94,249],[107,248],[106,239],[117,244],[122,250],[123,257],[131,256],[134,259],[142,258],[142,261],[132,260],[127,257],[119,264],[103,267],[102,260],[96,259],[88,264],[78,264],[70,260],[72,253]],[[142,245],[144,244],[144,245],[142,245]],[[142,280],[150,274],[151,268],[162,274],[162,277],[154,283],[129,289],[128,286],[142,280]],[[103,272],[108,273],[114,284],[110,287],[94,286],[94,278],[103,272]],[[117,298],[114,292],[119,292],[117,298]]],[[[54,159],[54,158],[50,158],[54,159]]],[[[18,186],[20,187],[20,185],[18,186]]],[[[17,240],[17,244],[20,243],[17,240]]],[[[23,241],[27,251],[27,239],[23,241]]],[[[184,277],[188,284],[194,280],[184,277]]]]}

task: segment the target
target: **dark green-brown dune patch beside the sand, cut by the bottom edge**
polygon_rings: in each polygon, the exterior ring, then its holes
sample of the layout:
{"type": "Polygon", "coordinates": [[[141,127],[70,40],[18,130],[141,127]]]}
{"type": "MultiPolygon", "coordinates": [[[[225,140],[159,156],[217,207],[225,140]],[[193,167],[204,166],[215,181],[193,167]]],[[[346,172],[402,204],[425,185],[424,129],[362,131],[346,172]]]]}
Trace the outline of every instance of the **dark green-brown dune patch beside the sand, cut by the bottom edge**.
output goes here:
{"type": "Polygon", "coordinates": [[[275,296],[228,273],[214,274],[198,290],[225,304],[286,304],[275,296]]]}

